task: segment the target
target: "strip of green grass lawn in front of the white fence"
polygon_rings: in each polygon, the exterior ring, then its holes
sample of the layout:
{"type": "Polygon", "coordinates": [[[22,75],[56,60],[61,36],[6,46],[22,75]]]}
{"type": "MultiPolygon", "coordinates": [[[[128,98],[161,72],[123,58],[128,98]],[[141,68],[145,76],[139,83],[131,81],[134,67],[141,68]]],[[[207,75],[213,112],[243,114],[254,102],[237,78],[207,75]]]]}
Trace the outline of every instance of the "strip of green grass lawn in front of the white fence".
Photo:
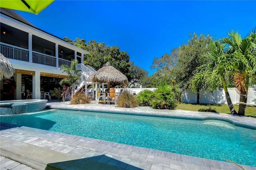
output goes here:
{"type": "MultiPolygon", "coordinates": [[[[218,113],[228,113],[230,114],[230,110],[227,104],[212,104],[212,109],[216,109],[218,113]]],[[[190,103],[181,103],[178,104],[176,109],[180,110],[191,110],[198,111],[199,109],[208,109],[208,104],[190,104],[190,103]]],[[[238,112],[238,105],[234,105],[236,112],[238,112]]],[[[256,106],[246,106],[245,116],[254,116],[256,117],[256,106]]]]}

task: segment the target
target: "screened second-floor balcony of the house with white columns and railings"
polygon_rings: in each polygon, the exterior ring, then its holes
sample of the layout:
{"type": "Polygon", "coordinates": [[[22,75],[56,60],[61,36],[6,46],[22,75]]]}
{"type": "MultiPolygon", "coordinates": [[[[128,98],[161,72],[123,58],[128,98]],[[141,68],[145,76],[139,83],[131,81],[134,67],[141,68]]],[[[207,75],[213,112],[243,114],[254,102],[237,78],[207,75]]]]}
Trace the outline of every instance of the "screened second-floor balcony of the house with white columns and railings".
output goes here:
{"type": "MultiPolygon", "coordinates": [[[[8,17],[4,19],[9,20],[8,17]]],[[[17,27],[13,27],[2,21],[0,53],[6,58],[59,68],[61,65],[70,66],[73,59],[83,63],[84,54],[88,54],[86,50],[37,28],[26,25],[28,28],[21,30],[17,23],[17,27]]]]}

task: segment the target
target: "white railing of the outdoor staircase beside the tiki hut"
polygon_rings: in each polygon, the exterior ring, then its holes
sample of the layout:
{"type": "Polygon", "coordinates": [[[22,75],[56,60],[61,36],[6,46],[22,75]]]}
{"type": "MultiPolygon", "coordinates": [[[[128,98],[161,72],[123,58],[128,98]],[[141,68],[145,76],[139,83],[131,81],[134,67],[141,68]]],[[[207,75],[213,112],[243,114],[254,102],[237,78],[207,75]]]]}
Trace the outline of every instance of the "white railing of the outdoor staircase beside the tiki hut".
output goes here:
{"type": "Polygon", "coordinates": [[[75,89],[75,92],[80,90],[80,88],[82,88],[84,86],[84,84],[86,84],[88,76],[90,76],[94,72],[96,72],[96,70],[94,70],[92,67],[90,67],[88,65],[84,65],[82,63],[77,64],[76,68],[80,68],[82,70],[82,72],[81,72],[80,80],[77,80],[73,84],[73,89],[75,89]]]}

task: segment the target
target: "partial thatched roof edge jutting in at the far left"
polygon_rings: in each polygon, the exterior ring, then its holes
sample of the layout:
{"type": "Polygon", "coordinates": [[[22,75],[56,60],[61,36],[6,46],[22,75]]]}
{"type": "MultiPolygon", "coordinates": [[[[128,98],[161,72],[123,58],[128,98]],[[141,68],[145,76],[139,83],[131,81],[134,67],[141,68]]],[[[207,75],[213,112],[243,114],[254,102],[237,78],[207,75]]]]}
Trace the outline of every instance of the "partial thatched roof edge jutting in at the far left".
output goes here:
{"type": "Polygon", "coordinates": [[[14,75],[14,68],[7,58],[0,53],[0,80],[11,78],[14,75]]]}

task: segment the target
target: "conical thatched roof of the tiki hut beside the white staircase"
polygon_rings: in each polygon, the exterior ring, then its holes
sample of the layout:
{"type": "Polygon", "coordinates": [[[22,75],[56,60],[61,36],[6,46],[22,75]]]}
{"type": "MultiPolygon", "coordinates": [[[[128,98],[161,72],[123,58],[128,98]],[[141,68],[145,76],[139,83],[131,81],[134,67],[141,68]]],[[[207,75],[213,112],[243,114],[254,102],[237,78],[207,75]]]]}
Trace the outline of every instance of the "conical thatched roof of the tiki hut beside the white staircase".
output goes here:
{"type": "Polygon", "coordinates": [[[87,78],[88,82],[128,82],[127,77],[107,62],[102,68],[87,78]]]}

